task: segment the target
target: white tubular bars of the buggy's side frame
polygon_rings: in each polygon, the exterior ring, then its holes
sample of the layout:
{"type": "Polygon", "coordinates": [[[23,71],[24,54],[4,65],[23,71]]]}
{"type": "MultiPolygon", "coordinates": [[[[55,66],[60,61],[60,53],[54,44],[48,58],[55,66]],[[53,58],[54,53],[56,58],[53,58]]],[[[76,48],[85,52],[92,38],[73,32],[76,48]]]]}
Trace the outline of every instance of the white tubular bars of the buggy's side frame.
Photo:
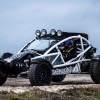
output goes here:
{"type": "Polygon", "coordinates": [[[92,45],[90,44],[90,42],[78,35],[78,36],[71,36],[71,37],[68,37],[68,38],[65,38],[63,40],[61,40],[60,42],[58,42],[57,44],[55,44],[54,46],[52,46],[49,50],[47,50],[43,55],[41,56],[37,56],[37,57],[34,57],[34,58],[31,58],[31,61],[33,62],[35,59],[38,59],[38,58],[46,58],[46,57],[51,57],[51,56],[55,56],[55,58],[53,59],[53,61],[51,62],[51,64],[53,65],[53,68],[58,68],[58,67],[63,67],[63,66],[71,66],[73,64],[78,64],[80,65],[81,62],[85,62],[85,61],[91,61],[91,59],[85,59],[84,58],[84,54],[92,47],[92,45]],[[80,49],[80,53],[75,57],[75,58],[72,58],[71,60],[65,62],[64,61],[64,58],[62,56],[62,53],[61,51],[59,50],[58,46],[67,41],[67,40],[70,40],[70,39],[80,39],[80,44],[81,44],[81,49],[80,49]],[[84,44],[83,44],[83,40],[88,44],[88,47],[86,49],[84,49],[84,44]],[[57,49],[57,52],[56,53],[50,53],[54,48],[57,49]],[[60,57],[61,60],[62,60],[62,64],[58,64],[58,65],[55,65],[55,61],[57,60],[57,58],[60,57]]]}

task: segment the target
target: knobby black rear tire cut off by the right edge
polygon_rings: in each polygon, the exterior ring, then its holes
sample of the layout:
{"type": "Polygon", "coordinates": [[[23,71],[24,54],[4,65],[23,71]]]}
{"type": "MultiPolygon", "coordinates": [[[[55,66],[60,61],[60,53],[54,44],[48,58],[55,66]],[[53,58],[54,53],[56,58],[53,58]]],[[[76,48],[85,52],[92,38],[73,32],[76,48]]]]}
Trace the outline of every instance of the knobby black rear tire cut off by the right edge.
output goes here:
{"type": "Polygon", "coordinates": [[[100,84],[100,61],[91,62],[90,75],[96,84],[100,84]]]}

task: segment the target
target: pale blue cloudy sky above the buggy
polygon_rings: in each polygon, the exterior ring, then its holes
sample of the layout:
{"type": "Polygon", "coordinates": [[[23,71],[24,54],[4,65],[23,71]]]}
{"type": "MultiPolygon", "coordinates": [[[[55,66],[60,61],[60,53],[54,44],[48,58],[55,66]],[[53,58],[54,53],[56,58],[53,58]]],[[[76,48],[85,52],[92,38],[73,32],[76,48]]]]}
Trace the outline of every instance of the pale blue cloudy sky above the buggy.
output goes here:
{"type": "Polygon", "coordinates": [[[87,33],[100,54],[100,0],[0,0],[0,54],[17,53],[37,29],[87,33]]]}

